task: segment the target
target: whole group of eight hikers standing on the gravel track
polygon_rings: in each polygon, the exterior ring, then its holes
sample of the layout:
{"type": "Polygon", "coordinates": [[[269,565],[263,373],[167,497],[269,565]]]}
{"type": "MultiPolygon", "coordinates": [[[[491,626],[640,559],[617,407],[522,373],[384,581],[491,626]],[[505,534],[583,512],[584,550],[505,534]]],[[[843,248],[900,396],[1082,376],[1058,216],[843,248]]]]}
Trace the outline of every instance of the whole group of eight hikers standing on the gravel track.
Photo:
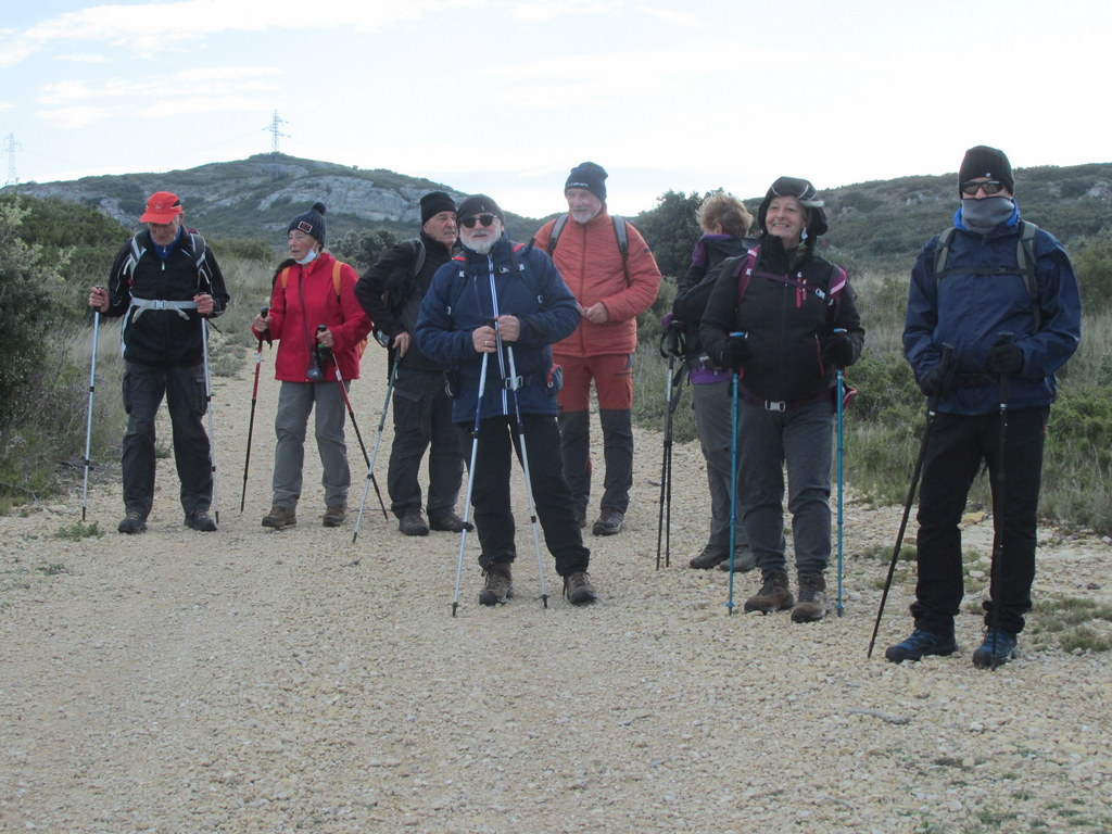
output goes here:
{"type": "MultiPolygon", "coordinates": [[[[564,189],[567,212],[527,242],[509,239],[505,214],[486,195],[457,205],[445,192],[426,193],[419,236],[394,246],[361,278],[325,249],[322,203],[289,222],[290,257],[275,270],[269,302],[251,324],[260,360],[264,341],[277,341],[275,376],[281,383],[264,527],[297,524],[310,414],[324,473],[322,524],[338,527],[351,510],[345,417],[367,466],[356,536],[371,485],[385,514],[374,468],[393,405],[389,512],[403,535],[426,536],[431,529],[460,536],[454,612],[471,530],[484,575],[479,602],[494,606],[513,596],[515,456],[525,476],[542,598],[547,605],[538,522],[568,602],[597,598],[583,538],[593,480],[592,385],[604,470],[590,530],[613,536],[624,529],[633,484],[637,316],[656,300],[661,282],[638,230],[608,214],[606,179],[594,162],[573,168],[564,189]],[[371,455],[349,398],[369,339],[386,348],[388,375],[371,455]]],[[[996,535],[985,638],[973,659],[995,667],[1013,656],[1031,608],[1043,438],[1054,374],[1080,339],[1080,297],[1061,245],[1020,219],[1002,151],[970,149],[957,187],[953,228],[923,247],[909,290],[904,351],[927,398],[913,478],[919,481],[922,474],[919,580],[914,632],[885,654],[901,662],[956,651],[954,616],[963,595],[959,525],[984,464],[996,535]]],[[[856,296],[845,269],[817,251],[827,217],[805,179],[773,182],[757,209],[756,229],[744,205],[723,193],[711,196],[697,219],[704,234],[662,321],[669,428],[661,528],[666,502],[671,516],[673,398],[686,376],[709,508],[708,536],[691,567],[759,569],[759,588],[745,610],[791,609],[794,622],[817,620],[830,607],[835,453],[841,613],[842,418],[852,398],[845,369],[857,361],[865,340],[856,296]],[[682,363],[678,370],[675,359],[682,363]]],[[[140,220],[148,228],[123,245],[108,287],[93,287],[89,295],[95,322],[101,314],[123,317],[128,427],[119,532],[146,529],[155,488],[155,415],[163,396],[185,524],[216,532],[207,336],[229,296],[203,238],[183,225],[175,195],[152,195],[140,220]]],[[[252,427],[258,374],[257,364],[252,427]]],[[[92,386],[90,379],[90,405],[92,386]]],[[[247,456],[245,496],[250,430],[247,456]]],[[[733,580],[732,573],[731,608],[733,580]]]]}

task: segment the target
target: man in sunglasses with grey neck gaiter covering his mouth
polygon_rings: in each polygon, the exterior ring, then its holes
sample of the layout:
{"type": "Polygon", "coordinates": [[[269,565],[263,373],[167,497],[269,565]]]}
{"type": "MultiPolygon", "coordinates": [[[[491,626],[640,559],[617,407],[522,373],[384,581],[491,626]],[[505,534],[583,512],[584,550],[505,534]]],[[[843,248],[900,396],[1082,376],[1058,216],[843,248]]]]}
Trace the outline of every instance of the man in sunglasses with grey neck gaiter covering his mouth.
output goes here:
{"type": "Polygon", "coordinates": [[[984,461],[996,540],[973,664],[995,668],[1014,656],[1031,610],[1043,440],[1054,374],[1081,338],[1081,298],[1061,244],[1020,219],[1003,151],[966,151],[957,190],[954,228],[927,241],[912,269],[904,355],[935,416],[920,492],[915,631],[885,656],[957,651],[959,525],[984,461]]]}

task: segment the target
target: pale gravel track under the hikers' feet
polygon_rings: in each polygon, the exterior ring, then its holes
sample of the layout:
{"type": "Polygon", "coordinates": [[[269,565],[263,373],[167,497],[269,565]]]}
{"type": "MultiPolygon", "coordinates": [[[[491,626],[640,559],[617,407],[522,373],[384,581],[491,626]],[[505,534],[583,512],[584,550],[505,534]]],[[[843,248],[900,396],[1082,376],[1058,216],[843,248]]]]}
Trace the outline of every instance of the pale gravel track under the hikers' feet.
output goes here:
{"type": "MultiPolygon", "coordinates": [[[[354,389],[368,446],[371,356],[354,389]]],[[[1112,831],[1112,656],[1024,636],[1021,659],[976,671],[963,614],[959,655],[887,664],[905,579],[865,658],[886,565],[863,553],[891,548],[900,508],[847,507],[844,617],[727,616],[725,574],[685,567],[706,529],[698,449],[675,450],[657,572],[659,436],[638,433],[628,529],[588,536],[598,604],[567,605],[545,554],[542,606],[523,510],[518,596],[477,604],[473,536],[451,617],[458,538],[401,536],[374,493],[357,544],[351,522],[324,529],[311,441],[300,524],[259,527],[271,370],[242,516],[249,369],[217,383],[218,534],[181,527],[170,460],[143,536],[115,533],[116,473],[90,498],[102,538],[54,537],[79,494],[0,518],[0,831],[1112,831]]],[[[383,481],[388,448],[389,427],[383,481]]],[[[986,553],[990,526],[970,545],[986,553]]],[[[1112,598],[1106,545],[1041,538],[1036,594],[1112,598]]]]}

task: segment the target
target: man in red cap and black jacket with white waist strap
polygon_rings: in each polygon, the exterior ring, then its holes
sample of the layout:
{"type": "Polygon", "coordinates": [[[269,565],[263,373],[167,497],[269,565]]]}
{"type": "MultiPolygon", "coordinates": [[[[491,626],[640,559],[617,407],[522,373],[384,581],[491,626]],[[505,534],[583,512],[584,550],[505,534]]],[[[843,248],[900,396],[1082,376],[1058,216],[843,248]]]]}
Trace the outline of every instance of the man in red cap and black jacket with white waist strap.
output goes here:
{"type": "Polygon", "coordinates": [[[147,529],[155,497],[155,415],[166,397],[186,526],[211,533],[212,458],[201,417],[208,409],[201,318],[228,306],[224,275],[205,239],[182,226],[181,200],[156,191],[139,218],[147,229],[112,264],[108,288],[89,290],[89,306],[122,316],[122,473],[126,515],[120,533],[147,529]]]}

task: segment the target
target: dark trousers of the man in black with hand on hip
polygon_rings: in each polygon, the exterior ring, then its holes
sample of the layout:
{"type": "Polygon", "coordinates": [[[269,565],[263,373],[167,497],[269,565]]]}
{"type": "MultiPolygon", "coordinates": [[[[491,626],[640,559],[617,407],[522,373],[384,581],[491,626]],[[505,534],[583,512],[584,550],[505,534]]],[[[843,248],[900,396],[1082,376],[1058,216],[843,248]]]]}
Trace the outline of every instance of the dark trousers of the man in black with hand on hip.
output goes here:
{"type": "Polygon", "coordinates": [[[428,449],[428,517],[456,512],[464,475],[459,431],[451,421],[451,398],[440,371],[404,366],[394,383],[394,445],[386,475],[390,509],[401,518],[421,508],[418,476],[428,449]],[[431,447],[431,448],[429,448],[431,447]]]}

